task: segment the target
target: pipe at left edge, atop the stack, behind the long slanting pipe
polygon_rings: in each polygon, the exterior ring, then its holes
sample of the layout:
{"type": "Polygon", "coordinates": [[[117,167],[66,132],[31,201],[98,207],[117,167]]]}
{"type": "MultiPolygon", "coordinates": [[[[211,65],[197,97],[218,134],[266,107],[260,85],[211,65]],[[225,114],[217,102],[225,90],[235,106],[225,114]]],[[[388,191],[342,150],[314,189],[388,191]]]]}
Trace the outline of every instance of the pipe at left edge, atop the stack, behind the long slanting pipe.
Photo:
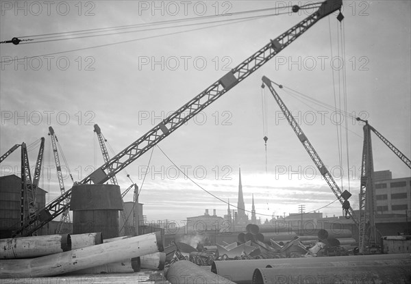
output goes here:
{"type": "Polygon", "coordinates": [[[0,240],[0,259],[42,257],[71,250],[71,235],[38,235],[0,240]]]}

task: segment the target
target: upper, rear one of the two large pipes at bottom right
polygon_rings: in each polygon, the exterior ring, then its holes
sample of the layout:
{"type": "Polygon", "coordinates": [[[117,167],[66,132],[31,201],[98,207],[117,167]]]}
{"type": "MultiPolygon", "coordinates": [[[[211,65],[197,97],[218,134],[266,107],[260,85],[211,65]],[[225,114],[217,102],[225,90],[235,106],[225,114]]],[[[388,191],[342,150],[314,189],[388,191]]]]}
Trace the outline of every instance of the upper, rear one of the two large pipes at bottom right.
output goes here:
{"type": "Polygon", "coordinates": [[[257,268],[266,268],[267,266],[271,266],[272,268],[289,268],[292,272],[299,267],[309,267],[311,271],[313,271],[313,268],[316,269],[321,267],[325,268],[325,270],[336,271],[340,267],[356,268],[360,266],[375,266],[379,267],[380,270],[383,270],[386,269],[386,266],[403,266],[409,268],[410,265],[411,258],[408,254],[359,255],[345,257],[302,257],[288,259],[214,261],[211,266],[211,271],[230,279],[237,284],[246,284],[252,282],[254,270],[257,268]]]}

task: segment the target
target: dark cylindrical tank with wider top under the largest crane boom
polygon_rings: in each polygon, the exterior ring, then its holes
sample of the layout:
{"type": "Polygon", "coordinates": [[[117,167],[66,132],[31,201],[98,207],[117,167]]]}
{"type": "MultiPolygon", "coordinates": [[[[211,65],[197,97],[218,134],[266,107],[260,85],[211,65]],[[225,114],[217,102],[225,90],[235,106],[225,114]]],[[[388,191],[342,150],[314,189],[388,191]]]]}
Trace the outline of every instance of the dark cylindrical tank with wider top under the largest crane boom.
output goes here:
{"type": "Polygon", "coordinates": [[[70,209],[73,234],[101,232],[105,239],[119,237],[119,210],[123,210],[119,185],[74,185],[70,209]]]}

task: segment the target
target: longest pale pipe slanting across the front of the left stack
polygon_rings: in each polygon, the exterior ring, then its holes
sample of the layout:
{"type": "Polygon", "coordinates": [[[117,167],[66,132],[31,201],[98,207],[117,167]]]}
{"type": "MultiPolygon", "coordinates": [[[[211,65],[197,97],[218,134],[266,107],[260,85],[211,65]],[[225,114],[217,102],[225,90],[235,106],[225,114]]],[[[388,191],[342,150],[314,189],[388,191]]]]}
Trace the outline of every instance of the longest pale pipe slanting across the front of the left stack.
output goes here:
{"type": "Polygon", "coordinates": [[[0,260],[1,278],[53,276],[162,251],[160,232],[35,259],[0,260]]]}

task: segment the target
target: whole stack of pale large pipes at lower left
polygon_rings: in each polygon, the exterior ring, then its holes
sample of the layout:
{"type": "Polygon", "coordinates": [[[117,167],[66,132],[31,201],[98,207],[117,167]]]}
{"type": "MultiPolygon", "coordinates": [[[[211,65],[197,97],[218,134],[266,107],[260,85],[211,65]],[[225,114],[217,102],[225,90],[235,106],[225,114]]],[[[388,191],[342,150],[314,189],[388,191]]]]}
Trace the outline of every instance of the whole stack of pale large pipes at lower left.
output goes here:
{"type": "Polygon", "coordinates": [[[162,269],[165,260],[159,232],[104,242],[101,233],[18,237],[0,240],[0,250],[2,279],[137,272],[142,262],[162,269]]]}

